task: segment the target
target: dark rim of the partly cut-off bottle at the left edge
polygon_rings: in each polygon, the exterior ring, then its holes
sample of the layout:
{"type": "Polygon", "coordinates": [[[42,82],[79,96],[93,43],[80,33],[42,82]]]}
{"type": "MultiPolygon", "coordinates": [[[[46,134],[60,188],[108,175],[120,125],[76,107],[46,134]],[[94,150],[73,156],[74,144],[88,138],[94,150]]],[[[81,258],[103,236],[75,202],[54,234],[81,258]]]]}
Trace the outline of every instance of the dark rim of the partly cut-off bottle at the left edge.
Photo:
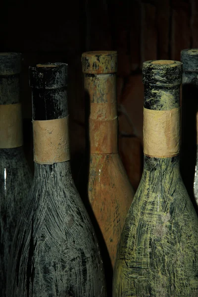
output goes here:
{"type": "Polygon", "coordinates": [[[21,53],[0,52],[0,75],[14,75],[21,71],[21,53]]]}

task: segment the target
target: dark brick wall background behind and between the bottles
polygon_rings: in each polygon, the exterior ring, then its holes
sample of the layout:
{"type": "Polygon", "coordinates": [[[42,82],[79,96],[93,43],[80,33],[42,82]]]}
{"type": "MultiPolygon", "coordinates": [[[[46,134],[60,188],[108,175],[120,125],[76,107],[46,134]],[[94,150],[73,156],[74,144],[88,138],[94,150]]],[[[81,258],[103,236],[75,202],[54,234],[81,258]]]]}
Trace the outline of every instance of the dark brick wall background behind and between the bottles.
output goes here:
{"type": "Polygon", "coordinates": [[[31,89],[28,66],[69,64],[69,111],[74,179],[85,149],[81,54],[117,50],[119,149],[136,189],[142,171],[142,63],[180,60],[181,49],[198,47],[197,0],[14,1],[0,4],[0,51],[23,56],[21,100],[24,148],[33,170],[31,89]]]}

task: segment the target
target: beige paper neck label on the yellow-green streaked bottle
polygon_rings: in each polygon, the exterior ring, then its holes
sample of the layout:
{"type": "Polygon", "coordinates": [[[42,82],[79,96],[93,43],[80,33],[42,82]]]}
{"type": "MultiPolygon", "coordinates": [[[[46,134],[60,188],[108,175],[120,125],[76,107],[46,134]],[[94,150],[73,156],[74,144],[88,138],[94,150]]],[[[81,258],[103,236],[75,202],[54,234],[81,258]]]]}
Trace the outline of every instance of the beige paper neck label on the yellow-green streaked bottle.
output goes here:
{"type": "Polygon", "coordinates": [[[180,107],[171,110],[144,108],[144,153],[171,157],[180,149],[180,107]]]}

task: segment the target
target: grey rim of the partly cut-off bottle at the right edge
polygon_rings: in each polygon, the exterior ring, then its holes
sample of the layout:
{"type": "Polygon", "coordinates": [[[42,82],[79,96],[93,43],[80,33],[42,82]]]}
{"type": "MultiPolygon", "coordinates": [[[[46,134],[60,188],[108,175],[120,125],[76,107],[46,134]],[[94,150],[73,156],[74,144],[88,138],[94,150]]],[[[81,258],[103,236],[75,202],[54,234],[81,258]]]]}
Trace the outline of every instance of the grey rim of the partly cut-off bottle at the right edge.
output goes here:
{"type": "Polygon", "coordinates": [[[183,49],[181,61],[183,72],[198,72],[198,49],[183,49]]]}

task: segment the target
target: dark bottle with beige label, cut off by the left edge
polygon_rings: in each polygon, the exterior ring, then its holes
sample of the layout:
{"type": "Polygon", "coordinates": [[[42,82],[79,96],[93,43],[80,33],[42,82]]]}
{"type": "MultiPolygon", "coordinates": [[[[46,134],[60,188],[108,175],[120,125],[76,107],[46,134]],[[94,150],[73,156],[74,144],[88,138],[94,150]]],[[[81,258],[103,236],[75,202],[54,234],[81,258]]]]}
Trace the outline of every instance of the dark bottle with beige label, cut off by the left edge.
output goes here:
{"type": "Polygon", "coordinates": [[[0,53],[0,296],[5,297],[9,251],[32,174],[23,152],[19,75],[21,54],[0,53]]]}

